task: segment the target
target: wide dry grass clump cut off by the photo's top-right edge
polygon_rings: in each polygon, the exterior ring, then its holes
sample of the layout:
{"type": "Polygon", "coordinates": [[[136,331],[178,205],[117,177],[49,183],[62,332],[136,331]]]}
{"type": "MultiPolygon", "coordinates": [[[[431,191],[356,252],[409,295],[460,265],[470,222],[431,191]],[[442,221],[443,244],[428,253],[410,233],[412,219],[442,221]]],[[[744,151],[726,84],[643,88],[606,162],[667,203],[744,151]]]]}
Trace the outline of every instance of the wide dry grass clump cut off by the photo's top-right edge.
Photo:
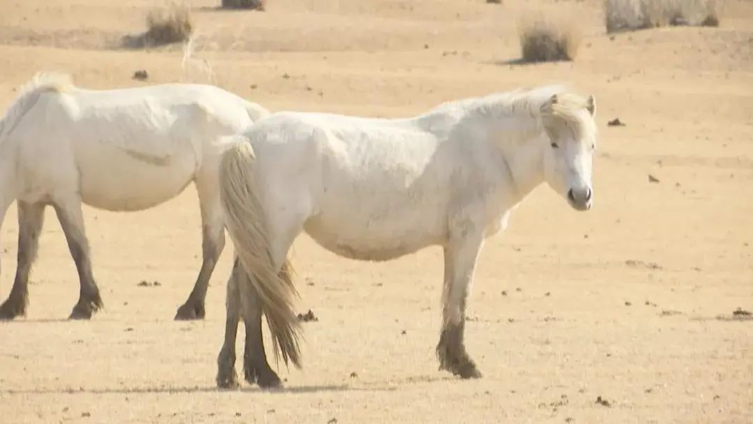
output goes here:
{"type": "Polygon", "coordinates": [[[607,32],[658,26],[719,26],[716,0],[605,0],[607,32]]]}

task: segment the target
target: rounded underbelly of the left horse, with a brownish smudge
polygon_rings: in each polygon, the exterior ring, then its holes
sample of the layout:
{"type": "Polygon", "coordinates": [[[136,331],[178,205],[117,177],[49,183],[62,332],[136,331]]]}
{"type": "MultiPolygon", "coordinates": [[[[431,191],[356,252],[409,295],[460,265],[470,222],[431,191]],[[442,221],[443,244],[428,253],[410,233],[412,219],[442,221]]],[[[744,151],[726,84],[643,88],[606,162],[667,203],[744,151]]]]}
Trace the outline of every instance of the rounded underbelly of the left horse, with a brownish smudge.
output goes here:
{"type": "Polygon", "coordinates": [[[136,211],[177,196],[193,180],[193,152],[155,161],[118,148],[102,147],[96,154],[79,154],[81,197],[87,205],[111,211],[136,211]]]}

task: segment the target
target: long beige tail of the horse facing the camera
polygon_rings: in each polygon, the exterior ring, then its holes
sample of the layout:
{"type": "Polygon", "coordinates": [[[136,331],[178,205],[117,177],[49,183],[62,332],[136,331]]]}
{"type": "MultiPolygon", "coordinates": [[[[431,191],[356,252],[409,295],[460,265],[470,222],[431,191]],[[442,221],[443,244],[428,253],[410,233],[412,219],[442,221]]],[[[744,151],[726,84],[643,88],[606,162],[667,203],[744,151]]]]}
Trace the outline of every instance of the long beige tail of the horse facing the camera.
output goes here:
{"type": "MultiPolygon", "coordinates": [[[[287,259],[282,270],[275,267],[267,236],[267,217],[256,193],[256,157],[248,140],[238,142],[222,154],[220,198],[225,225],[248,278],[240,284],[252,284],[272,335],[275,358],[282,356],[300,368],[300,323],[293,312],[297,296],[287,259]]],[[[247,291],[248,292],[248,291],[247,291]]],[[[243,293],[243,291],[241,291],[243,293]]]]}

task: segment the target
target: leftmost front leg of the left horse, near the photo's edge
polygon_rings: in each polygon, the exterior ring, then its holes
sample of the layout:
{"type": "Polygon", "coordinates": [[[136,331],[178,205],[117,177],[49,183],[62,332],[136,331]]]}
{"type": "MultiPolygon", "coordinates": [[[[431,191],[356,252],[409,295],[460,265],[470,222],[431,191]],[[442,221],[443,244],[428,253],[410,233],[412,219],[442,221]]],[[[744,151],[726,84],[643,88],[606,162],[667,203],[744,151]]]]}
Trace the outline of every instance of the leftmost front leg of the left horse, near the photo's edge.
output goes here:
{"type": "Polygon", "coordinates": [[[29,304],[29,273],[37,257],[39,234],[44,223],[44,204],[18,202],[18,256],[16,278],[8,299],[0,305],[0,319],[26,315],[29,304]]]}

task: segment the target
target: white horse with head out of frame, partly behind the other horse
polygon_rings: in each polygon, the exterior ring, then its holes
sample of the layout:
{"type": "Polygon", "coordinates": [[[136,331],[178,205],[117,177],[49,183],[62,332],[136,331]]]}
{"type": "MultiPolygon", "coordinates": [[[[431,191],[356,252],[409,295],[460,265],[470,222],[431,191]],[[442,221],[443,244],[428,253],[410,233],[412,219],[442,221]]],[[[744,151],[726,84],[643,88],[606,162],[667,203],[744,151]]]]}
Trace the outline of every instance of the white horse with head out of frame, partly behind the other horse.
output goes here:
{"type": "Polygon", "coordinates": [[[218,166],[233,134],[269,112],[209,85],[163,84],[84,90],[66,75],[38,74],[0,121],[0,224],[17,201],[18,266],[0,319],[26,313],[44,207],[53,206],[78,269],[81,294],[70,318],[102,307],[81,203],[137,211],[194,181],[203,225],[203,264],[176,319],[201,319],[209,277],[224,246],[218,166]]]}

